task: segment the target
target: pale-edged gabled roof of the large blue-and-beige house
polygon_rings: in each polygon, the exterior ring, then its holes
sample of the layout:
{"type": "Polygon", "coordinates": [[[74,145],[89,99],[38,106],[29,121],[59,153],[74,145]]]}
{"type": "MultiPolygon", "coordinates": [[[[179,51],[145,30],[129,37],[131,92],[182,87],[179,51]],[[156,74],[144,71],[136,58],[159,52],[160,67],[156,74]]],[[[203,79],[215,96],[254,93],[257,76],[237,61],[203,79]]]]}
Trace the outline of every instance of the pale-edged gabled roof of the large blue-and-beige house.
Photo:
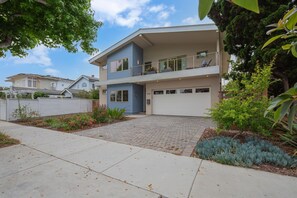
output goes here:
{"type": "MultiPolygon", "coordinates": [[[[179,33],[179,32],[199,32],[199,31],[217,31],[218,28],[215,24],[201,24],[201,25],[186,25],[186,26],[171,26],[171,27],[156,27],[156,28],[141,28],[119,42],[115,43],[111,47],[107,48],[103,52],[93,56],[89,63],[94,65],[99,65],[100,63],[96,62],[102,57],[106,57],[116,50],[120,49],[124,45],[127,45],[133,42],[133,39],[136,37],[144,37],[145,34],[157,34],[157,33],[179,33]]],[[[149,41],[148,41],[149,43],[149,41]]]]}

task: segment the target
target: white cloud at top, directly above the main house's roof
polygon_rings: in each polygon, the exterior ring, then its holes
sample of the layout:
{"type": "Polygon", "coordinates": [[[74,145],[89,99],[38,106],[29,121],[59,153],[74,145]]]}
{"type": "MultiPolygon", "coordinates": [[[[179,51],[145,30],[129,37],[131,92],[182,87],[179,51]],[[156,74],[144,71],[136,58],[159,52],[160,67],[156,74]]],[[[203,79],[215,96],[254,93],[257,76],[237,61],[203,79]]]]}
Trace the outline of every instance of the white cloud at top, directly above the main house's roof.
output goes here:
{"type": "Polygon", "coordinates": [[[155,16],[165,22],[175,12],[174,6],[150,5],[150,0],[92,0],[92,8],[97,19],[123,27],[146,23],[155,16]]]}

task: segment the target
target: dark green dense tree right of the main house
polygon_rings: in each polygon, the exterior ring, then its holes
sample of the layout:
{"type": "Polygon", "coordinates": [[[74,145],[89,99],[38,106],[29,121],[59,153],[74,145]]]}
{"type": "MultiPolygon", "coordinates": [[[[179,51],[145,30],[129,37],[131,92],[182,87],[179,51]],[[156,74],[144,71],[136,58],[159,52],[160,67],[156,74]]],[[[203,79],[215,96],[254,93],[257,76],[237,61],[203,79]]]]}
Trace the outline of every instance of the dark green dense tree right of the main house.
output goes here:
{"type": "Polygon", "coordinates": [[[283,13],[291,7],[291,2],[291,0],[261,0],[259,14],[225,0],[219,0],[213,4],[208,16],[220,31],[226,32],[225,51],[240,59],[240,64],[233,68],[233,72],[229,75],[231,79],[240,78],[242,72],[254,71],[257,63],[263,66],[275,58],[273,76],[280,79],[283,86],[274,87],[272,94],[279,94],[296,82],[297,60],[279,48],[285,44],[282,43],[284,41],[278,40],[264,50],[261,49],[268,38],[266,26],[282,18],[283,13]]]}

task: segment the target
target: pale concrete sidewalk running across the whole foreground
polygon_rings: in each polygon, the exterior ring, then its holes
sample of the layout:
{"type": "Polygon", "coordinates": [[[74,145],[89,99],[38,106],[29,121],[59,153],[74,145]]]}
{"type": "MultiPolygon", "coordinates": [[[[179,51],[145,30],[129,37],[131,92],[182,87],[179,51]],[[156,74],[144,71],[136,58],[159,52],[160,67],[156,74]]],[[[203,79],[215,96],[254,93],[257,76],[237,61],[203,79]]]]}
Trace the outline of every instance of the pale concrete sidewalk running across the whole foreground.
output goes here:
{"type": "Polygon", "coordinates": [[[0,121],[0,197],[295,197],[297,178],[0,121]]]}

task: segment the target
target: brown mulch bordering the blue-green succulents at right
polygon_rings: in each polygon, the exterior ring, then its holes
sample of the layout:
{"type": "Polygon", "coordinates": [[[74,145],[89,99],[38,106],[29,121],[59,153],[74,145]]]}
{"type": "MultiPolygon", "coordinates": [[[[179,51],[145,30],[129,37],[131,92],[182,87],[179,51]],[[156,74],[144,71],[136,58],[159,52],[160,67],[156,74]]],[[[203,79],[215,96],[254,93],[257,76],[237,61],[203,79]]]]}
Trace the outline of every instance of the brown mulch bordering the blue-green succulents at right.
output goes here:
{"type": "MultiPolygon", "coordinates": [[[[203,134],[200,137],[199,141],[210,139],[210,138],[213,138],[213,137],[216,137],[216,136],[225,136],[225,137],[235,137],[236,139],[240,140],[240,142],[243,143],[244,140],[247,137],[257,137],[259,139],[263,139],[263,140],[267,140],[267,141],[271,142],[272,144],[280,147],[282,150],[284,150],[286,153],[288,153],[290,155],[293,155],[293,153],[294,153],[294,148],[291,147],[291,146],[285,145],[279,139],[279,137],[276,136],[276,135],[272,136],[272,137],[269,137],[269,139],[268,139],[266,137],[253,134],[251,132],[244,132],[244,133],[242,133],[240,135],[237,135],[237,134],[238,134],[237,131],[222,131],[222,132],[220,132],[220,134],[218,134],[216,132],[216,130],[208,128],[208,129],[205,129],[205,131],[203,132],[203,134]]],[[[197,157],[197,158],[199,157],[199,156],[197,156],[195,150],[193,150],[191,156],[192,157],[197,157]]],[[[281,174],[281,175],[288,175],[288,176],[297,177],[297,168],[292,168],[292,169],[290,169],[290,168],[280,168],[280,167],[272,166],[272,165],[269,165],[269,164],[263,164],[263,165],[260,165],[260,166],[253,165],[251,168],[256,169],[256,170],[281,174]]]]}

